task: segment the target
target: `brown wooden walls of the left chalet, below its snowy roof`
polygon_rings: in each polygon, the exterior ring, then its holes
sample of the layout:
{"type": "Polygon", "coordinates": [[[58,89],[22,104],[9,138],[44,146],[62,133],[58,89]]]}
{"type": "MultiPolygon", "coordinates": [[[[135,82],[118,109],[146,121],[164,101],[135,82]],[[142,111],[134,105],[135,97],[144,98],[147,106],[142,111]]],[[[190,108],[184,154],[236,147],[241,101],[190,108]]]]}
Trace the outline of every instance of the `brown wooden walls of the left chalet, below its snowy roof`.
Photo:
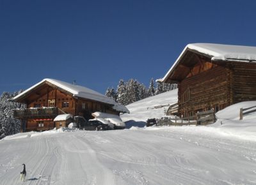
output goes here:
{"type": "Polygon", "coordinates": [[[112,108],[113,105],[73,96],[72,93],[47,81],[15,101],[27,105],[25,110],[14,110],[14,116],[22,123],[22,132],[53,129],[56,127],[53,120],[60,114],[80,115],[87,120],[93,118],[93,112],[120,114],[112,108]]]}

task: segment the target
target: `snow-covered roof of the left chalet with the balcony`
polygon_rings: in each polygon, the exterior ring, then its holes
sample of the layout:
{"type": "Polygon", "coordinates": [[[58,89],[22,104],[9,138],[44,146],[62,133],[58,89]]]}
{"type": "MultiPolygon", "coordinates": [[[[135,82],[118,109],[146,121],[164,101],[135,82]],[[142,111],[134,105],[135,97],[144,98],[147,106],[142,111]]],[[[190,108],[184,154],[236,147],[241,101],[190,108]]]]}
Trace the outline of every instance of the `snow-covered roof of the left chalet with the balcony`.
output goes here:
{"type": "Polygon", "coordinates": [[[29,89],[26,89],[26,91],[18,94],[13,98],[13,100],[17,100],[24,94],[27,94],[29,91],[34,89],[35,87],[38,87],[38,85],[43,84],[44,82],[49,82],[53,85],[56,85],[57,87],[60,87],[61,89],[68,91],[69,93],[73,94],[75,97],[80,97],[80,98],[86,98],[89,100],[95,100],[95,101],[100,101],[102,103],[108,103],[110,105],[113,105],[113,109],[119,111],[119,112],[124,112],[124,113],[129,113],[129,110],[124,106],[120,105],[119,103],[116,103],[115,100],[108,98],[107,96],[104,96],[103,94],[100,94],[96,91],[93,91],[92,89],[89,89],[87,87],[83,87],[80,85],[74,85],[74,84],[69,84],[67,82],[63,82],[61,80],[55,80],[52,78],[45,78],[41,82],[38,82],[37,84],[33,85],[29,89]]]}

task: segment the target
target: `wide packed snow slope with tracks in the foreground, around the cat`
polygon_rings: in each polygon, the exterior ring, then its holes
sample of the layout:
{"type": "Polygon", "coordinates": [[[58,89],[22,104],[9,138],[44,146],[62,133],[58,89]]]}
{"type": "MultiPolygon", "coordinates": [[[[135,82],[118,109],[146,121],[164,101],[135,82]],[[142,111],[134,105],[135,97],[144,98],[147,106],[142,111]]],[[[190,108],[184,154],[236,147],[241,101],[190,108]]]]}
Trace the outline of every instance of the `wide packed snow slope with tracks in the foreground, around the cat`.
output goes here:
{"type": "Polygon", "coordinates": [[[0,184],[256,184],[256,142],[212,128],[20,135],[0,141],[0,184]]]}

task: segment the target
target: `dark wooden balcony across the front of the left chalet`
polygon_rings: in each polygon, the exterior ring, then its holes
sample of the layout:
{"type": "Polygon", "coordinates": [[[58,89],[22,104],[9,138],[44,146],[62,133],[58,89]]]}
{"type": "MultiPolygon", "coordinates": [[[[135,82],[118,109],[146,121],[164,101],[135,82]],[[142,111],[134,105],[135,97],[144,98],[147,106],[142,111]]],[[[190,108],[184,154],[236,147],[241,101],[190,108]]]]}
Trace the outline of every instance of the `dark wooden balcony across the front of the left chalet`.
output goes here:
{"type": "Polygon", "coordinates": [[[15,109],[13,116],[17,119],[54,118],[63,114],[58,107],[15,109]]]}

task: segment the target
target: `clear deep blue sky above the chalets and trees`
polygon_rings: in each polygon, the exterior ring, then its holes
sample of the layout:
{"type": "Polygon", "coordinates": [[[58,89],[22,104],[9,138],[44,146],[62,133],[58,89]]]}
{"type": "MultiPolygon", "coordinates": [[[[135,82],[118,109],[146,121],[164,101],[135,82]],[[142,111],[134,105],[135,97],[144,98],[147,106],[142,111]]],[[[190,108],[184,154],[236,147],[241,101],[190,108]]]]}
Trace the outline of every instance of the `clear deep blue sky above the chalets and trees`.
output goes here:
{"type": "Polygon", "coordinates": [[[188,43],[256,46],[256,1],[0,0],[0,93],[43,78],[149,85],[188,43]]]}

